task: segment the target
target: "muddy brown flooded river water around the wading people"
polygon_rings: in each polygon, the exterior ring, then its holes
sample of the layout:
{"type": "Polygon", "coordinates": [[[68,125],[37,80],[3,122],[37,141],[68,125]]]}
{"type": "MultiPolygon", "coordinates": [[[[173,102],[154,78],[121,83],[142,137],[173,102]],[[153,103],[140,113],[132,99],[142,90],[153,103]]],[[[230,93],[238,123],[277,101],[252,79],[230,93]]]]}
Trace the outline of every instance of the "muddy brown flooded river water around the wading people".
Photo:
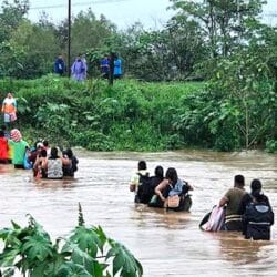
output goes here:
{"type": "Polygon", "coordinates": [[[277,228],[271,242],[248,242],[237,233],[204,233],[202,217],[233,186],[236,174],[260,178],[277,215],[277,156],[263,153],[78,153],[74,181],[33,182],[30,171],[0,165],[0,226],[10,219],[25,225],[25,214],[42,224],[52,238],[78,223],[81,202],[88,225],[101,225],[140,259],[144,276],[277,276],[277,228]],[[135,207],[129,182],[138,160],[176,167],[188,181],[191,213],[135,207]]]}

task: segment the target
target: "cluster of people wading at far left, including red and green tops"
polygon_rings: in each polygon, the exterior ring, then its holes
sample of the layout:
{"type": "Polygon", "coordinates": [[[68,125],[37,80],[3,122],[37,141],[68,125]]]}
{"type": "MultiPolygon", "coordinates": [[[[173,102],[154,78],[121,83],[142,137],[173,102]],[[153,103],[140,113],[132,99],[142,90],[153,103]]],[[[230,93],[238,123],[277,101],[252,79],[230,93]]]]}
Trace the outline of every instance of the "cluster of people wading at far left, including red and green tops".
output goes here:
{"type": "Polygon", "coordinates": [[[22,138],[18,129],[0,130],[0,163],[12,163],[14,168],[32,170],[37,178],[60,179],[74,177],[78,171],[78,158],[71,148],[59,153],[57,146],[50,147],[49,142],[38,141],[32,147],[22,138]]]}

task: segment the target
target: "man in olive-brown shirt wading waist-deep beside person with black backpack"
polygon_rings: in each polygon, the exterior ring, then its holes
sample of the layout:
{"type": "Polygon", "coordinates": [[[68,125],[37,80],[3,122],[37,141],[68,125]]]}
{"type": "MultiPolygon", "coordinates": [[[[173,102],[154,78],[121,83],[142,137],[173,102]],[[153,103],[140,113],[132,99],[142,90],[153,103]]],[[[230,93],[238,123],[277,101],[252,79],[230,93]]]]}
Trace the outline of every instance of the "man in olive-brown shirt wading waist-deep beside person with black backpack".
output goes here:
{"type": "Polygon", "coordinates": [[[243,175],[236,175],[234,178],[234,187],[228,189],[224,197],[219,202],[219,206],[226,206],[225,216],[225,230],[239,230],[243,229],[242,216],[238,214],[238,207],[246,194],[245,179],[243,175]]]}

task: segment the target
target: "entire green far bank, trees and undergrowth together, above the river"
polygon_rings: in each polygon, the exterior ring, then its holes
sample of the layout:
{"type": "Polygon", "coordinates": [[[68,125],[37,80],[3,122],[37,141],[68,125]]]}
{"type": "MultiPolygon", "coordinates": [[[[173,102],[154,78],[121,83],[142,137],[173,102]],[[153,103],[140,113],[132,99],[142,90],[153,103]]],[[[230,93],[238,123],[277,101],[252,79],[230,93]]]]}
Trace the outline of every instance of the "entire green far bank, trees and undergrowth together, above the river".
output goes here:
{"type": "Polygon", "coordinates": [[[19,124],[33,140],[90,150],[277,148],[277,31],[260,22],[263,0],[172,0],[161,30],[117,30],[91,10],[72,20],[72,53],[85,52],[84,84],[53,75],[65,52],[65,21],[25,19],[28,0],[3,1],[0,13],[1,98],[19,99],[19,124]],[[115,51],[125,78],[99,81],[99,61],[115,51]],[[13,79],[7,79],[13,78],[13,79]],[[205,80],[182,83],[183,80],[205,80]],[[179,83],[144,83],[181,81],[179,83]]]}

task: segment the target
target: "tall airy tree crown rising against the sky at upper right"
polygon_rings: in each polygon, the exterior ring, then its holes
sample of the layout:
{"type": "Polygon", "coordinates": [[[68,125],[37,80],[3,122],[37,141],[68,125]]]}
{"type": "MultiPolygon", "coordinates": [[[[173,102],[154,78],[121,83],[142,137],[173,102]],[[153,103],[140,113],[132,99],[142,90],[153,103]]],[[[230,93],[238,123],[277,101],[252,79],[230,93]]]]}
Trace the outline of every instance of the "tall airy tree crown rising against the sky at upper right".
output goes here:
{"type": "Polygon", "coordinates": [[[178,17],[201,24],[208,40],[212,58],[228,55],[240,43],[245,20],[255,19],[261,12],[263,0],[171,0],[178,17]]]}

